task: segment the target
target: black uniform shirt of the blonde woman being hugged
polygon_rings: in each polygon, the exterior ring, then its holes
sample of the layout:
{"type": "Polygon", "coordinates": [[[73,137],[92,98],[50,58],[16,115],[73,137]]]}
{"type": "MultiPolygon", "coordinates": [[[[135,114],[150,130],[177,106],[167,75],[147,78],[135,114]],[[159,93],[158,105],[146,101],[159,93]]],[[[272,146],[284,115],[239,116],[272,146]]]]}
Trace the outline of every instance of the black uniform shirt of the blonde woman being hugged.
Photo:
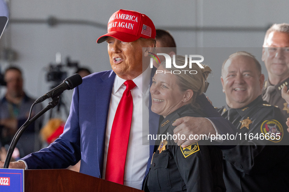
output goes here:
{"type": "MultiPolygon", "coordinates": [[[[203,116],[188,105],[166,116],[160,123],[159,134],[173,135],[172,123],[183,116],[203,116]]],[[[222,192],[222,152],[216,146],[194,143],[186,148],[166,139],[165,150],[156,150],[145,191],[150,192],[222,192]],[[161,152],[160,152],[161,151],[161,152]]],[[[159,142],[156,142],[159,146],[159,142]]],[[[157,146],[157,147],[158,147],[157,146]]],[[[161,146],[162,147],[162,146],[161,146]]]]}

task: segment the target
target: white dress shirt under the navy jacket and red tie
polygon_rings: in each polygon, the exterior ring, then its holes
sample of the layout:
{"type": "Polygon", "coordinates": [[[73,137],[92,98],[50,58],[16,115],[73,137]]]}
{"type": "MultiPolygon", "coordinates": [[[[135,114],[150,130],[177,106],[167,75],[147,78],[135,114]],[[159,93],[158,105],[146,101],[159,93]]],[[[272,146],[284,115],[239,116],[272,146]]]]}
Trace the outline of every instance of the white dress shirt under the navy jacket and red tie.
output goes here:
{"type": "MultiPolygon", "coordinates": [[[[141,75],[135,77],[133,82],[136,87],[131,90],[133,96],[133,117],[125,164],[124,185],[136,189],[141,189],[150,155],[150,146],[148,144],[144,145],[143,140],[147,139],[149,133],[151,71],[152,69],[148,67],[141,75]]],[[[116,76],[113,83],[105,138],[103,178],[105,178],[111,127],[118,103],[126,89],[126,86],[123,84],[125,81],[125,79],[116,76]]]]}

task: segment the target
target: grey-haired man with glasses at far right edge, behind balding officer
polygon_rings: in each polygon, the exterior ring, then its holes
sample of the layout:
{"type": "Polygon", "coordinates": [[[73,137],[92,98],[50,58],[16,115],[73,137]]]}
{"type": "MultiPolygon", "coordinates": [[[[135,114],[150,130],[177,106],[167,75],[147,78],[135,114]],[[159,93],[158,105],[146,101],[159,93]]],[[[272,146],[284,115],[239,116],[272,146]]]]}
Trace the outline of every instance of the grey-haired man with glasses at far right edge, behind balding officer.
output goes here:
{"type": "Polygon", "coordinates": [[[289,104],[281,97],[282,88],[289,87],[289,24],[274,24],[267,30],[262,60],[268,72],[262,98],[289,117],[289,104]]]}

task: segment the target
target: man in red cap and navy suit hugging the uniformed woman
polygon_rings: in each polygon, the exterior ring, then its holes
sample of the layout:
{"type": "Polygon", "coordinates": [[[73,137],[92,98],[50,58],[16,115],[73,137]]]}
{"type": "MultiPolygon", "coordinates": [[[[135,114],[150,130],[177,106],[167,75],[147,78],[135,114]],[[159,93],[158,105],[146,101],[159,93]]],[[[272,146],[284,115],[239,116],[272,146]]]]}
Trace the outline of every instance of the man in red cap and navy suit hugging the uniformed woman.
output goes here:
{"type": "MultiPolygon", "coordinates": [[[[40,152],[10,163],[9,168],[58,169],[81,160],[80,173],[105,179],[114,115],[126,89],[124,82],[133,80],[136,86],[131,90],[133,115],[123,184],[141,189],[154,150],[153,145],[143,145],[142,140],[147,134],[157,134],[159,123],[159,115],[150,110],[149,94],[151,76],[156,70],[149,67],[155,37],[154,23],[146,15],[128,10],[115,12],[109,20],[108,33],[97,39],[97,43],[108,43],[112,70],[84,77],[74,90],[70,115],[60,138],[40,152]]],[[[236,134],[233,125],[219,115],[205,96],[200,100],[209,118],[184,118],[179,122],[183,130],[180,134],[187,130],[195,130],[190,132],[194,134],[236,134]]],[[[221,143],[234,145],[228,140],[218,144],[221,143]]]]}

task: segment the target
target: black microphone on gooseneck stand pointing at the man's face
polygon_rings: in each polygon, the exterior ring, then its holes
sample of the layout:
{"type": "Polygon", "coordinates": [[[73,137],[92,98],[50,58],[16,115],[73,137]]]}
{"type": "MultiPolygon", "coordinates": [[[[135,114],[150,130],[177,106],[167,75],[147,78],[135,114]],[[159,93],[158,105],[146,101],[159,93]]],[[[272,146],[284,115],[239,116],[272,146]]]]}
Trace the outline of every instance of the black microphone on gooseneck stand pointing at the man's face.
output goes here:
{"type": "Polygon", "coordinates": [[[39,97],[34,103],[41,103],[47,98],[60,96],[65,90],[70,90],[82,83],[82,78],[79,74],[74,74],[73,76],[64,79],[63,83],[52,89],[51,91],[44,94],[44,96],[39,97]]]}

